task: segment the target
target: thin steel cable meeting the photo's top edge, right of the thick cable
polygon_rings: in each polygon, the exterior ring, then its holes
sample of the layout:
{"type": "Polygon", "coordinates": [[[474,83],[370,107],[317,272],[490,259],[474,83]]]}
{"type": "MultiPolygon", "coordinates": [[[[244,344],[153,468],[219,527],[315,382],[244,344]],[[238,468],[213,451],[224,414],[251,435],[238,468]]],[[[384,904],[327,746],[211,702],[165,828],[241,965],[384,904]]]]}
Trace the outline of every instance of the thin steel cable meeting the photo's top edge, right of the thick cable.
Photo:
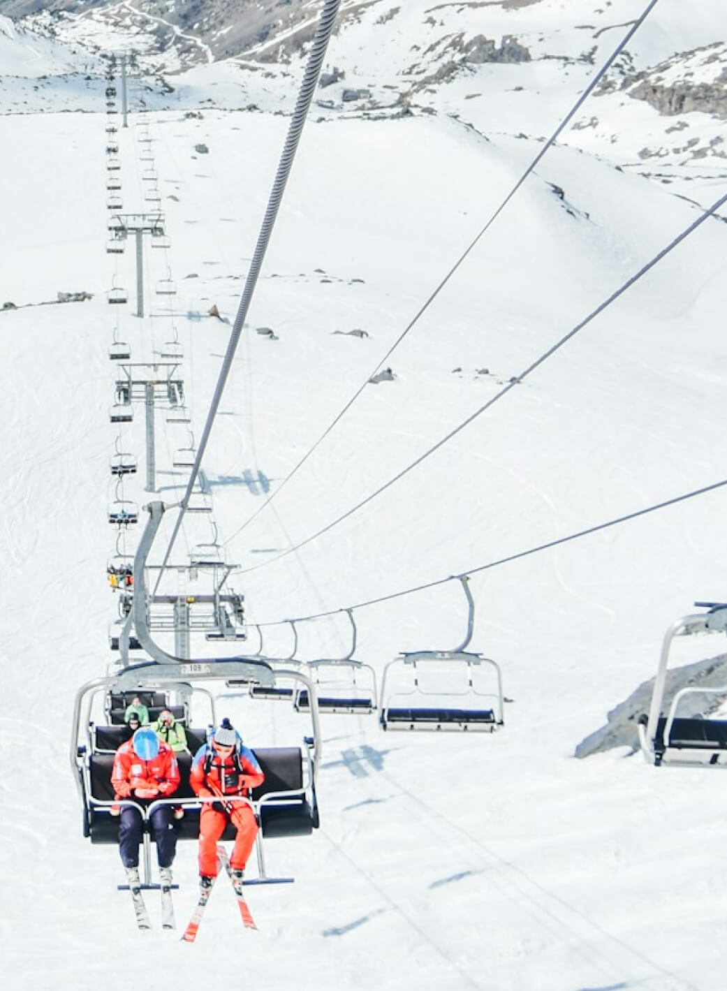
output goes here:
{"type": "Polygon", "coordinates": [[[558,125],[558,127],[556,128],[556,130],[553,132],[553,134],[551,135],[551,137],[546,141],[546,143],[544,144],[543,148],[538,152],[538,154],[533,159],[533,161],[530,163],[530,165],[527,166],[527,168],[522,173],[522,175],[520,176],[520,178],[517,180],[517,182],[515,183],[515,185],[507,193],[507,195],[502,200],[502,202],[500,203],[500,205],[497,207],[497,209],[494,211],[494,213],[490,216],[489,220],[487,220],[487,222],[484,225],[484,227],[481,228],[481,230],[476,235],[476,237],[474,238],[474,240],[469,243],[469,245],[467,246],[466,250],[459,257],[459,259],[455,262],[455,264],[449,270],[449,272],[447,273],[447,275],[444,276],[444,278],[437,284],[437,286],[434,288],[434,290],[430,293],[430,295],[427,297],[427,299],[420,306],[420,308],[414,314],[414,316],[412,317],[412,319],[409,321],[409,323],[406,325],[406,327],[404,327],[403,331],[399,334],[399,336],[396,338],[396,340],[394,341],[394,343],[388,349],[388,351],[386,352],[386,354],[383,356],[383,358],[380,359],[380,361],[377,363],[377,365],[372,369],[372,371],[369,373],[369,375],[364,379],[364,382],[362,383],[362,385],[359,386],[359,388],[357,389],[357,391],[352,395],[352,397],[349,399],[349,401],[346,403],[346,405],[343,407],[343,409],[334,417],[333,421],[324,430],[324,432],[321,434],[321,436],[318,438],[318,440],[313,444],[313,446],[311,448],[309,448],[308,451],[303,455],[303,457],[294,466],[294,468],[291,470],[291,472],[280,482],[280,484],[276,487],[275,491],[273,493],[271,493],[270,495],[268,495],[268,497],[265,499],[265,501],[256,509],[256,511],[251,516],[249,516],[249,518],[243,523],[243,525],[238,530],[236,530],[235,533],[232,534],[232,536],[230,536],[228,538],[229,540],[232,540],[233,537],[236,537],[238,534],[242,533],[243,530],[245,530],[253,522],[253,520],[257,516],[260,515],[260,512],[262,512],[262,510],[264,508],[266,508],[266,506],[272,501],[272,499],[282,491],[282,489],[284,488],[284,486],[287,485],[287,483],[293,478],[293,476],[297,474],[298,470],[303,467],[303,465],[305,464],[305,462],[310,458],[310,456],[314,453],[314,451],[317,450],[317,448],[323,443],[323,441],[331,433],[331,431],[334,429],[334,427],[336,427],[336,425],[343,419],[343,417],[346,415],[346,413],[349,411],[349,409],[351,409],[351,407],[354,405],[354,403],[356,402],[356,400],[362,394],[362,392],[364,391],[366,385],[368,385],[368,383],[370,382],[370,380],[372,379],[372,377],[379,371],[379,369],[382,368],[382,366],[384,365],[384,363],[388,361],[388,359],[391,357],[391,355],[396,350],[396,348],[398,348],[398,346],[401,344],[401,342],[407,336],[407,334],[409,333],[409,331],[412,330],[412,328],[419,322],[420,318],[424,315],[424,313],[426,313],[426,311],[429,309],[429,307],[434,302],[434,300],[437,298],[437,296],[440,294],[440,292],[448,284],[448,282],[450,281],[450,279],[452,278],[452,276],[455,275],[455,273],[460,269],[460,267],[463,265],[463,263],[466,261],[467,257],[469,256],[469,254],[473,251],[473,249],[479,243],[479,241],[484,236],[484,234],[486,234],[486,232],[492,226],[492,224],[497,219],[497,217],[502,213],[502,211],[505,209],[505,207],[510,202],[510,200],[515,196],[515,194],[518,192],[518,190],[523,185],[523,183],[528,178],[528,176],[534,171],[534,169],[536,168],[536,166],[540,164],[540,162],[543,160],[543,158],[546,155],[546,153],[553,147],[553,145],[555,144],[555,142],[557,141],[557,139],[561,136],[561,134],[565,131],[565,129],[571,123],[571,120],[572,120],[573,116],[578,112],[578,110],[583,105],[583,103],[585,102],[585,100],[593,92],[593,90],[595,89],[595,87],[598,85],[598,83],[601,81],[601,79],[603,78],[603,76],[605,75],[605,73],[608,71],[608,69],[613,64],[614,60],[618,57],[618,55],[621,55],[621,53],[623,52],[623,50],[626,47],[626,45],[628,44],[628,42],[631,41],[631,39],[633,38],[635,32],[641,27],[641,25],[644,23],[644,21],[646,20],[646,18],[649,16],[649,14],[651,13],[651,11],[654,9],[654,7],[656,7],[657,3],[658,3],[658,0],[650,0],[649,4],[647,5],[646,9],[642,13],[641,17],[639,17],[638,20],[636,20],[632,24],[631,29],[627,32],[627,34],[624,36],[624,38],[621,40],[621,42],[619,42],[618,46],[613,51],[613,53],[611,55],[609,55],[609,57],[606,59],[606,61],[603,63],[603,65],[600,67],[600,69],[596,72],[596,74],[590,80],[590,82],[588,83],[588,85],[585,87],[585,89],[583,90],[583,92],[580,94],[580,96],[577,98],[577,100],[575,101],[575,103],[571,107],[571,110],[563,118],[563,120],[561,121],[561,123],[558,125]]]}

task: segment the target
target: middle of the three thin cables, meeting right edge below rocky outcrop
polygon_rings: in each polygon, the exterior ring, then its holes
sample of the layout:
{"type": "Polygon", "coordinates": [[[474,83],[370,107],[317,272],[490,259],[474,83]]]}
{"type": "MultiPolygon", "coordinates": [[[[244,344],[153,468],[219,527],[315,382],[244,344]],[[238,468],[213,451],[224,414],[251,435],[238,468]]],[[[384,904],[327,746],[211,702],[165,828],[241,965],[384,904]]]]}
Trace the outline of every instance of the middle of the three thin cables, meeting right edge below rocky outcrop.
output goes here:
{"type": "Polygon", "coordinates": [[[375,489],[372,493],[366,495],[363,499],[361,499],[361,501],[357,502],[350,509],[347,509],[347,511],[342,513],[340,516],[337,516],[334,520],[332,520],[326,526],[322,527],[320,530],[317,530],[315,533],[312,533],[309,537],[306,537],[305,540],[301,540],[300,543],[295,544],[293,547],[288,548],[288,550],[282,551],[280,554],[278,554],[274,558],[271,558],[269,561],[264,561],[261,564],[254,565],[251,568],[243,568],[241,574],[247,575],[253,571],[260,571],[260,568],[267,568],[271,564],[274,564],[276,561],[280,561],[282,558],[287,557],[288,554],[292,554],[294,551],[300,550],[301,547],[305,547],[306,544],[309,544],[312,541],[317,540],[318,537],[323,536],[325,533],[328,533],[329,530],[332,530],[335,526],[338,526],[339,523],[342,523],[345,519],[348,519],[350,516],[353,516],[355,512],[358,512],[358,510],[363,508],[364,505],[367,505],[369,502],[371,502],[377,495],[381,495],[381,493],[386,492],[386,490],[390,489],[391,486],[401,481],[401,479],[403,479],[406,475],[408,475],[409,472],[411,472],[418,465],[421,465],[422,462],[426,461],[426,459],[429,458],[432,454],[434,454],[440,448],[444,447],[444,445],[447,444],[450,440],[452,440],[453,437],[456,437],[462,430],[465,429],[465,427],[469,426],[470,423],[474,422],[474,420],[481,413],[485,412],[485,410],[489,409],[500,399],[504,398],[504,396],[506,396],[508,392],[510,392],[516,385],[519,385],[525,379],[529,378],[529,376],[531,376],[533,372],[539,369],[540,366],[543,365],[545,362],[547,362],[549,358],[552,358],[553,355],[555,355],[558,351],[560,351],[561,348],[563,348],[571,340],[571,338],[573,338],[579,331],[581,331],[584,327],[586,327],[591,322],[591,320],[593,320],[596,316],[601,314],[605,309],[608,308],[608,306],[611,305],[612,302],[614,302],[616,299],[622,296],[627,289],[631,288],[631,286],[634,285],[635,282],[637,282],[643,275],[646,275],[648,272],[650,272],[659,262],[662,261],[663,258],[669,255],[670,252],[672,252],[678,244],[680,244],[685,238],[687,238],[690,234],[692,234],[701,224],[704,223],[705,220],[711,217],[715,213],[715,211],[718,210],[719,207],[722,206],[725,202],[727,202],[727,193],[724,193],[722,196],[720,196],[719,199],[715,200],[715,202],[712,203],[712,205],[708,207],[699,217],[697,217],[696,220],[692,221],[692,223],[689,224],[689,226],[686,227],[679,234],[677,234],[676,237],[665,248],[663,248],[660,252],[658,252],[654,256],[654,258],[651,259],[651,261],[647,262],[646,265],[642,266],[641,269],[639,269],[639,271],[635,273],[635,275],[631,275],[629,278],[627,278],[626,281],[623,282],[606,299],[604,299],[603,302],[599,303],[595,307],[595,309],[591,310],[586,317],[584,317],[582,320],[579,321],[579,323],[576,323],[575,326],[572,327],[567,334],[564,334],[564,336],[561,337],[558,341],[556,341],[556,343],[553,344],[550,348],[548,348],[547,351],[544,351],[543,354],[541,354],[538,358],[536,358],[534,362],[531,362],[531,364],[523,372],[521,372],[517,376],[514,376],[508,382],[507,385],[504,385],[499,390],[499,392],[496,392],[483,405],[481,405],[478,409],[475,409],[473,413],[470,413],[470,415],[467,416],[465,420],[463,420],[460,424],[458,424],[458,426],[450,430],[449,433],[445,434],[444,437],[438,440],[436,444],[433,444],[432,447],[428,448],[418,458],[415,458],[415,460],[412,461],[409,465],[407,465],[406,468],[402,468],[400,472],[392,476],[392,478],[390,478],[388,482],[384,482],[384,484],[382,486],[379,486],[378,489],[375,489]]]}

